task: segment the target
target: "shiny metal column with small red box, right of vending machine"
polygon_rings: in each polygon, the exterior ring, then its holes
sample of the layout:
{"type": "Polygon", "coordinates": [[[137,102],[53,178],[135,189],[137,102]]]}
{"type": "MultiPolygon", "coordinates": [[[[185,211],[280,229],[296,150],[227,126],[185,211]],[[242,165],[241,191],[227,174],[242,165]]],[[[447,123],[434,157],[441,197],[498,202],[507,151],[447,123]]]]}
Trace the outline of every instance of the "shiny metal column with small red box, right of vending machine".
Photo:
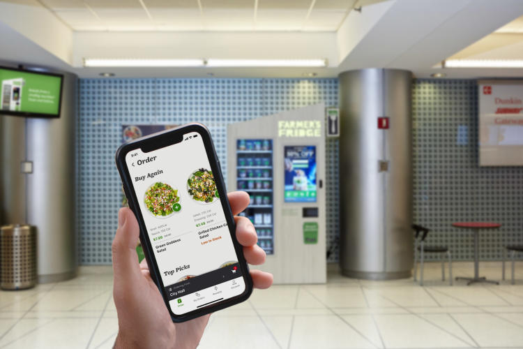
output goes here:
{"type": "Polygon", "coordinates": [[[362,279],[411,274],[411,81],[407,70],[340,74],[340,267],[362,279]],[[379,118],[386,117],[387,128],[379,118]]]}

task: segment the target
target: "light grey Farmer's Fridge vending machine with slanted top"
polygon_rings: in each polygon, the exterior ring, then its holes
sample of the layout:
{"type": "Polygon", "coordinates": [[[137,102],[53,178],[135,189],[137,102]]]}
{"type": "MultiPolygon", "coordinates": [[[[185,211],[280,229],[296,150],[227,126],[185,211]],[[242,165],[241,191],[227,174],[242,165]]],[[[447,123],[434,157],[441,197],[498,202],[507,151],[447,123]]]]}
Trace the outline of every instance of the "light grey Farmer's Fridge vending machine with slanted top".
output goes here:
{"type": "Polygon", "coordinates": [[[227,188],[250,195],[241,213],[275,283],[326,282],[325,107],[227,126],[227,188]]]}

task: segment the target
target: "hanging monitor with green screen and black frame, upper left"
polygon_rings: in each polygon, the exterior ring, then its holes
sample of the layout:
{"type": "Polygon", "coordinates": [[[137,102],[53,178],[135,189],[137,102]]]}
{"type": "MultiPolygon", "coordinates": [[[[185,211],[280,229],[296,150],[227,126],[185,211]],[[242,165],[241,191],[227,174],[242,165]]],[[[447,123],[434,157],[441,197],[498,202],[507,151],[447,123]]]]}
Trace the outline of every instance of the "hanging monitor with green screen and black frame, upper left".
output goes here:
{"type": "Polygon", "coordinates": [[[0,67],[0,114],[60,117],[63,75],[0,67]]]}

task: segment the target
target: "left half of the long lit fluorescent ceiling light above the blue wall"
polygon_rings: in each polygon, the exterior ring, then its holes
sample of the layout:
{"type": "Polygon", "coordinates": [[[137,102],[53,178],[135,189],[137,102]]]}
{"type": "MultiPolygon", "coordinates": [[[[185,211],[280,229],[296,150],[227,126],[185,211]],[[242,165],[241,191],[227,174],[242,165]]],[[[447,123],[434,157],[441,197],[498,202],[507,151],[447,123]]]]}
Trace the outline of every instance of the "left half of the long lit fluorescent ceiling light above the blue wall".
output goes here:
{"type": "Polygon", "coordinates": [[[203,59],[98,59],[84,58],[86,67],[188,67],[204,66],[203,59]]]}

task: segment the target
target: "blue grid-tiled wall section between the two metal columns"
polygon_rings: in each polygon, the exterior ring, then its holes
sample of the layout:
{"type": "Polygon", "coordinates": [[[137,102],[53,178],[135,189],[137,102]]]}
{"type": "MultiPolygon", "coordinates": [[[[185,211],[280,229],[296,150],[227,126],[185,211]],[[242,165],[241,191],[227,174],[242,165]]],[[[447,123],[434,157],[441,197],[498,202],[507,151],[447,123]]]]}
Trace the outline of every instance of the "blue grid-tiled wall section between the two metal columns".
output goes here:
{"type": "MultiPolygon", "coordinates": [[[[79,254],[111,262],[121,182],[114,151],[122,124],[209,127],[227,174],[227,124],[323,101],[338,105],[337,79],[82,79],[79,84],[79,254]]],[[[338,142],[327,144],[328,245],[338,236],[338,142]]],[[[337,259],[333,249],[331,260],[337,259]]]]}

